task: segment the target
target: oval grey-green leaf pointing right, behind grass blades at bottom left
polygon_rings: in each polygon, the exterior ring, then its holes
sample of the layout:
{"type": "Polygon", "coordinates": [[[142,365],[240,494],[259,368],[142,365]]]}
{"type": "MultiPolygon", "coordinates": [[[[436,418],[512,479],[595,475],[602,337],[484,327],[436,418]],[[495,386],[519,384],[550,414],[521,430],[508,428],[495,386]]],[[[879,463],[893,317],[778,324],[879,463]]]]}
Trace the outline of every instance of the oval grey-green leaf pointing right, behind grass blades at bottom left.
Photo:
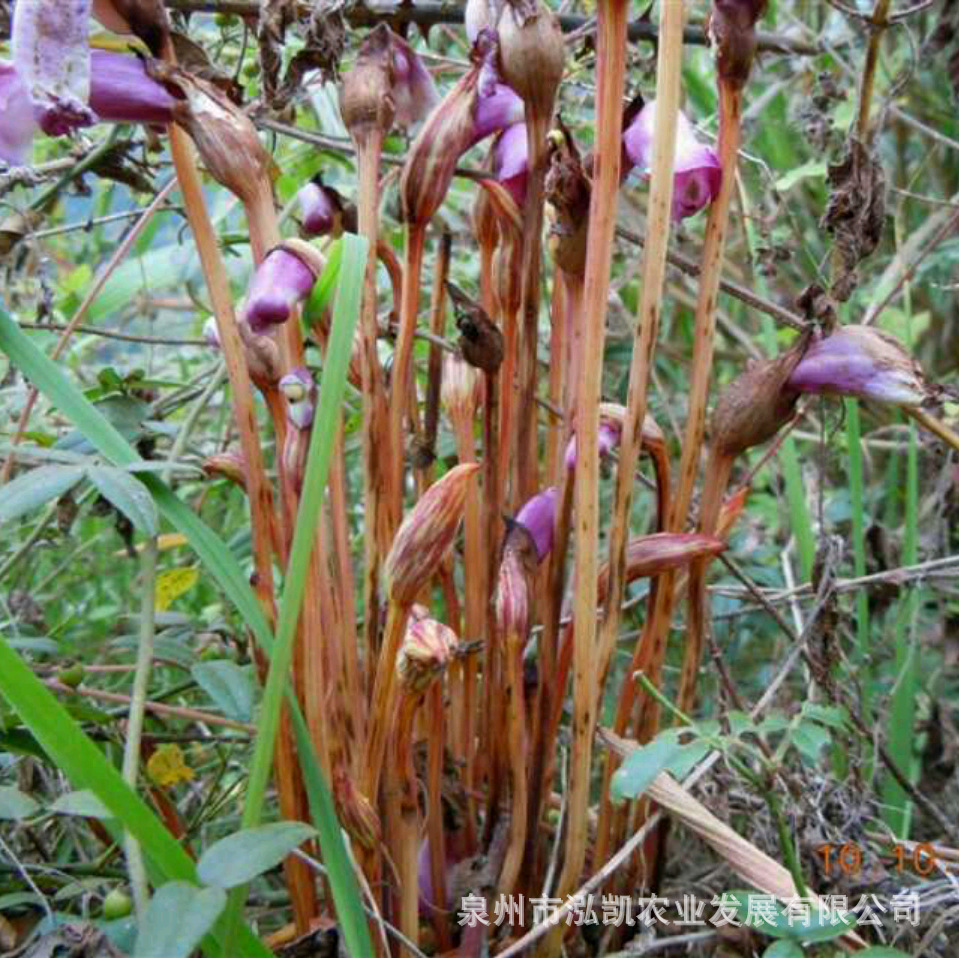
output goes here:
{"type": "Polygon", "coordinates": [[[244,828],[221,838],[201,856],[200,880],[218,888],[234,888],[279,865],[297,845],[313,838],[316,829],[304,822],[273,822],[244,828]]]}

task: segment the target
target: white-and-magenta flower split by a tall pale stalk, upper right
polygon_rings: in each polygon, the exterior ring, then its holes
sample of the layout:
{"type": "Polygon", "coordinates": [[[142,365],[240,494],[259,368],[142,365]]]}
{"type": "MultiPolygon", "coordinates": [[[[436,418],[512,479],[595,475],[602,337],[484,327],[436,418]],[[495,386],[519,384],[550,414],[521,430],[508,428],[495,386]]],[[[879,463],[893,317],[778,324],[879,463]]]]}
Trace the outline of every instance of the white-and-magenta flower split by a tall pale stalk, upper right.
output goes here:
{"type": "MultiPolygon", "coordinates": [[[[653,133],[656,101],[650,100],[623,132],[623,146],[629,166],[648,172],[653,158],[653,133]]],[[[676,160],[673,168],[673,219],[693,216],[711,203],[722,183],[722,165],[712,147],[696,138],[693,125],[680,113],[676,126],[676,160]]]]}

